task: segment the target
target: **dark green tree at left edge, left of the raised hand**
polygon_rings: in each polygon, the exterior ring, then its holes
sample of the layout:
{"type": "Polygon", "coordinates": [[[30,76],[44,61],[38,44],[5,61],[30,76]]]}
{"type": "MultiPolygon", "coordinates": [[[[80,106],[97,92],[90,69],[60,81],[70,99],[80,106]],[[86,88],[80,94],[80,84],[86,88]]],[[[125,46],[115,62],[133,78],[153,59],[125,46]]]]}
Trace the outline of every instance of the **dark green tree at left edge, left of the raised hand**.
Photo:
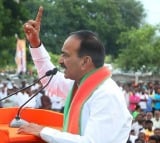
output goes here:
{"type": "Polygon", "coordinates": [[[14,55],[16,37],[23,36],[22,23],[26,19],[26,10],[14,0],[0,1],[0,66],[15,65],[14,55]]]}

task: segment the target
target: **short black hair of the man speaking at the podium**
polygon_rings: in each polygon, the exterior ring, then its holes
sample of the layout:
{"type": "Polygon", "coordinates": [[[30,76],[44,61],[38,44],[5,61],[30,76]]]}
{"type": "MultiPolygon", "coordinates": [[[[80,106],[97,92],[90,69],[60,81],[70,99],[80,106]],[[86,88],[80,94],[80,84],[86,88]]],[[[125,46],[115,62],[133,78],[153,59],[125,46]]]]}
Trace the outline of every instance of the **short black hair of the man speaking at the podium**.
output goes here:
{"type": "Polygon", "coordinates": [[[95,33],[81,30],[72,32],[70,35],[74,35],[81,40],[78,51],[79,57],[90,56],[96,68],[104,65],[105,48],[95,33]]]}

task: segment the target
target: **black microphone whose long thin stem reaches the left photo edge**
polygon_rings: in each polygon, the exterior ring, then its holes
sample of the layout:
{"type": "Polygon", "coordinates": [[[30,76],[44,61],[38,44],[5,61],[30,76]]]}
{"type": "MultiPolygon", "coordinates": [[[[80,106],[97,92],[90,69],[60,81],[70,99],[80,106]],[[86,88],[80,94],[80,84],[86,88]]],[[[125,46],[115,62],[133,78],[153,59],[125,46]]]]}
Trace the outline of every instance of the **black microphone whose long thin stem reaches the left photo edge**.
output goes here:
{"type": "Polygon", "coordinates": [[[13,95],[15,95],[15,94],[17,94],[18,92],[21,92],[21,91],[23,91],[23,90],[26,90],[26,89],[30,88],[31,86],[33,86],[34,84],[36,84],[37,82],[39,82],[39,81],[40,81],[41,79],[43,79],[44,77],[56,74],[57,71],[58,71],[57,68],[54,68],[54,69],[52,69],[52,70],[47,71],[47,72],[45,73],[45,75],[43,75],[42,77],[40,77],[39,79],[37,79],[37,80],[36,80],[35,82],[33,82],[31,85],[29,85],[29,86],[27,86],[27,87],[24,87],[24,88],[21,88],[21,89],[17,90],[16,92],[11,93],[10,95],[8,95],[8,96],[0,99],[0,102],[3,101],[3,100],[5,100],[5,99],[7,99],[7,98],[9,98],[9,97],[11,97],[11,96],[13,96],[13,95]]]}

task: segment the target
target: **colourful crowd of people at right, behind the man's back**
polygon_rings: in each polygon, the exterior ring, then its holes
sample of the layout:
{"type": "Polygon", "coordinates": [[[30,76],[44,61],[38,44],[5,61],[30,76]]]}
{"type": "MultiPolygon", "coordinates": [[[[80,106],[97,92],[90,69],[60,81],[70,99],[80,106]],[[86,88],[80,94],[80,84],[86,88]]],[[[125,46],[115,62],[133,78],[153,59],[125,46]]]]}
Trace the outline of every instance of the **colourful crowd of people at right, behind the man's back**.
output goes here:
{"type": "Polygon", "coordinates": [[[133,116],[127,143],[160,143],[159,81],[120,85],[133,116]]]}

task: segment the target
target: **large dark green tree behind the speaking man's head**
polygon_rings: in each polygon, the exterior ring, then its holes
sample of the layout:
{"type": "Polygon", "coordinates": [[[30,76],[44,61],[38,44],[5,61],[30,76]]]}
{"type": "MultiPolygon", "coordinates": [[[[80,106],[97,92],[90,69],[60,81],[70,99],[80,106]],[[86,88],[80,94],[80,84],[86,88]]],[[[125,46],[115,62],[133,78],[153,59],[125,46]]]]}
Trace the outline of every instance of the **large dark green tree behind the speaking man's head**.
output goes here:
{"type": "Polygon", "coordinates": [[[54,53],[60,53],[70,32],[89,29],[99,34],[107,54],[117,56],[123,48],[116,43],[119,34],[138,28],[145,16],[142,4],[136,0],[34,0],[24,5],[33,18],[39,5],[44,6],[41,36],[54,53]]]}

